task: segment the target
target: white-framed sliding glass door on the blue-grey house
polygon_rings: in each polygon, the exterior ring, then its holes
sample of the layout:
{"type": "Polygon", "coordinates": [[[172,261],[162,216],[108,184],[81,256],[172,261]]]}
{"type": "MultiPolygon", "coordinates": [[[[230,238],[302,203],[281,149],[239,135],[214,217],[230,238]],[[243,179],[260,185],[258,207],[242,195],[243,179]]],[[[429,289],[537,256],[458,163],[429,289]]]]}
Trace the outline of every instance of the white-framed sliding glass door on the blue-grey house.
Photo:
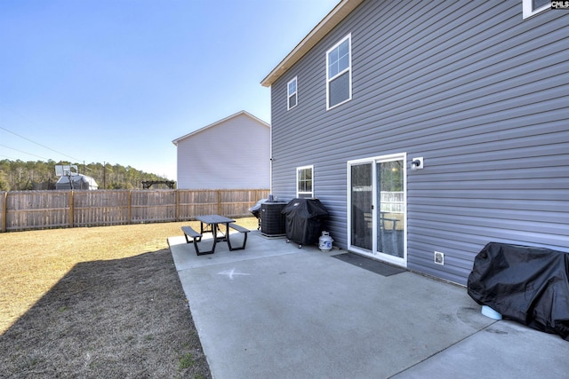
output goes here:
{"type": "Polygon", "coordinates": [[[407,266],[407,154],[388,154],[388,155],[379,155],[373,156],[369,158],[362,158],[353,161],[347,162],[347,178],[348,178],[348,193],[347,193],[347,210],[348,210],[348,222],[347,222],[347,241],[348,241],[348,249],[349,251],[356,252],[358,254],[365,255],[367,257],[373,257],[375,259],[380,259],[382,261],[388,262],[393,265],[399,265],[406,267],[407,266]],[[403,193],[404,195],[404,208],[405,211],[403,213],[403,257],[394,257],[389,254],[381,253],[378,251],[377,248],[377,234],[378,234],[378,193],[379,189],[377,188],[377,163],[381,162],[393,162],[393,161],[403,161],[402,169],[403,169],[403,193]],[[358,164],[371,164],[372,165],[372,250],[362,249],[352,244],[351,236],[352,236],[352,183],[351,183],[351,167],[358,165],[358,164]]]}

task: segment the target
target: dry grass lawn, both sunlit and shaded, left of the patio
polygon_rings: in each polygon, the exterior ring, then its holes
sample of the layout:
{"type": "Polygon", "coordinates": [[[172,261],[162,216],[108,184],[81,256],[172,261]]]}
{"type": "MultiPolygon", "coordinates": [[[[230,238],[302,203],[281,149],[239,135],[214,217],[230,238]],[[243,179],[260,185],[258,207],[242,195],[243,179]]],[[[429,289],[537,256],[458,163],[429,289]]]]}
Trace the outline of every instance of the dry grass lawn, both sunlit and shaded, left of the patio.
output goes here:
{"type": "Polygon", "coordinates": [[[196,224],[0,233],[0,377],[211,377],[167,246],[196,224]]]}

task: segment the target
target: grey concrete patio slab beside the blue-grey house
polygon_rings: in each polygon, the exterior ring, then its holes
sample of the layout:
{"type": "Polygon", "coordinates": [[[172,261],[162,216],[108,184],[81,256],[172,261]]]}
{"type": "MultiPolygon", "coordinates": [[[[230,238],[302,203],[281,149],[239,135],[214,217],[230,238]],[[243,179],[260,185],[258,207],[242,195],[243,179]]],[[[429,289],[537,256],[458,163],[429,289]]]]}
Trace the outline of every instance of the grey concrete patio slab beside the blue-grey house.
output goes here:
{"type": "Polygon", "coordinates": [[[568,342],[485,317],[460,286],[413,272],[384,277],[331,257],[345,251],[298,249],[256,231],[245,250],[219,243],[209,256],[183,237],[168,241],[214,378],[569,372],[568,342]]]}

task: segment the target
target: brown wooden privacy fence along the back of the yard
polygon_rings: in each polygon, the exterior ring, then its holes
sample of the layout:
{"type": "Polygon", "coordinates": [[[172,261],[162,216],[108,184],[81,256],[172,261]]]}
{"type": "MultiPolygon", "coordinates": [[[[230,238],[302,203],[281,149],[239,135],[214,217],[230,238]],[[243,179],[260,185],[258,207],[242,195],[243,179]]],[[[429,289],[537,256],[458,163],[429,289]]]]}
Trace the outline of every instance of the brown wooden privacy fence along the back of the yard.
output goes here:
{"type": "Polygon", "coordinates": [[[268,189],[97,190],[0,193],[0,231],[186,221],[217,214],[251,216],[268,189]]]}

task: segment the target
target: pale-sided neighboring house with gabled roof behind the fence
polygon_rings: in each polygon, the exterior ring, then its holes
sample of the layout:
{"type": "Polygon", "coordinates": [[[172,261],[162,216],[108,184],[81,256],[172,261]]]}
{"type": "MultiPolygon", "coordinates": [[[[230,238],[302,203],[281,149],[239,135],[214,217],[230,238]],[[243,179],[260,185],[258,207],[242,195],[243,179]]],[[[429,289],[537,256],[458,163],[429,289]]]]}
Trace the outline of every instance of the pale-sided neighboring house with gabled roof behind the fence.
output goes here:
{"type": "Polygon", "coordinates": [[[245,111],[193,131],[172,143],[180,189],[266,189],[270,177],[270,126],[245,111]]]}

